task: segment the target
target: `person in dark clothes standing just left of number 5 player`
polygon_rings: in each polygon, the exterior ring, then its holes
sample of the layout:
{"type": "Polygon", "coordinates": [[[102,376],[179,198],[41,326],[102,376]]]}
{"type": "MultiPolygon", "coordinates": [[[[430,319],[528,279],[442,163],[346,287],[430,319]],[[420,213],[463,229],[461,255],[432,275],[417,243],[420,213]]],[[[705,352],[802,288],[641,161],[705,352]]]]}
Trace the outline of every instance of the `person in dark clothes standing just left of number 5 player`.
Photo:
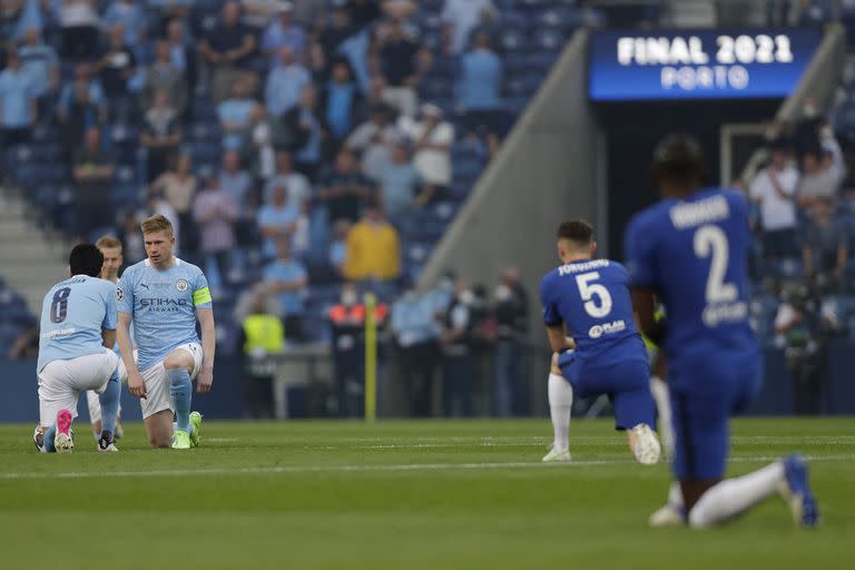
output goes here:
{"type": "Polygon", "coordinates": [[[493,352],[493,413],[500,417],[525,415],[529,385],[525,374],[528,295],[520,272],[508,267],[493,293],[498,342],[493,352]]]}

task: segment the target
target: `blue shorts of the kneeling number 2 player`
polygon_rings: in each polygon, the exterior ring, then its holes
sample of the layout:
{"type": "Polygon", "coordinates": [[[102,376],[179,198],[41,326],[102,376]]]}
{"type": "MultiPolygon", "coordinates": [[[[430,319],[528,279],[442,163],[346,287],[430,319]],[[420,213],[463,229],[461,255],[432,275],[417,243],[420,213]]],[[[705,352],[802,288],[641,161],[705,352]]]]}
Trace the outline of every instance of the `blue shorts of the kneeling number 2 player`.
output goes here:
{"type": "Polygon", "coordinates": [[[728,417],[744,411],[760,386],[757,355],[669,362],[669,366],[674,475],[678,481],[723,479],[730,438],[728,417]]]}

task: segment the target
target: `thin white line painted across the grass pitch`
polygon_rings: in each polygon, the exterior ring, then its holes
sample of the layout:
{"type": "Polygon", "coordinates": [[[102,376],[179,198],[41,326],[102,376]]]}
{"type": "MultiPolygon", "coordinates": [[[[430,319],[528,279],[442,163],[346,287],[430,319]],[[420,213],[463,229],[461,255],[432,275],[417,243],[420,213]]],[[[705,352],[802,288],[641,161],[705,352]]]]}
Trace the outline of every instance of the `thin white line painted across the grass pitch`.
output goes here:
{"type": "MultiPolygon", "coordinates": [[[[730,458],[733,463],[768,463],[779,460],[779,456],[743,455],[730,458]]],[[[807,455],[808,461],[855,461],[855,454],[845,455],[807,455]]],[[[95,479],[105,476],[136,478],[136,476],[187,476],[187,475],[266,475],[289,473],[352,473],[352,472],[410,472],[410,471],[473,471],[489,469],[567,469],[587,468],[599,465],[619,465],[635,463],[626,460],[587,460],[570,461],[567,463],[541,463],[535,461],[513,461],[504,463],[403,463],[391,465],[272,465],[265,468],[206,468],[206,469],[174,469],[151,471],[67,471],[67,472],[40,472],[40,473],[0,473],[0,480],[10,479],[95,479]]],[[[642,469],[642,468],[639,468],[642,469]]]]}

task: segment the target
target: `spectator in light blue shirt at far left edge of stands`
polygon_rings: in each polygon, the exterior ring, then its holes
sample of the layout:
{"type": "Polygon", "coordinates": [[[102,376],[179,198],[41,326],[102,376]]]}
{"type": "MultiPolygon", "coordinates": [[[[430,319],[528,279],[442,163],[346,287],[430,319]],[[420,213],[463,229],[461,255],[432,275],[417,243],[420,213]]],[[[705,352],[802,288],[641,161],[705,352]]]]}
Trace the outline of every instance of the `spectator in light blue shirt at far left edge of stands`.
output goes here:
{"type": "MultiPolygon", "coordinates": [[[[21,67],[16,50],[9,50],[0,72],[0,151],[27,142],[36,122],[36,86],[21,67]]],[[[2,154],[0,153],[0,158],[2,154]]]]}

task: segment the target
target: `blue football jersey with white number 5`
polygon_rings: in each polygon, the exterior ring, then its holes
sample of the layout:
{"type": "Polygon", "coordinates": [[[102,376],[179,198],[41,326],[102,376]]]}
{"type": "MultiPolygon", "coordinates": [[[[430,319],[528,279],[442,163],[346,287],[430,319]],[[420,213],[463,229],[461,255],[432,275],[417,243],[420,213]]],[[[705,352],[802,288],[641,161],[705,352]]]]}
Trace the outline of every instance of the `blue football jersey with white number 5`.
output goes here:
{"type": "Polygon", "coordinates": [[[608,259],[587,259],[557,267],[540,283],[543,323],[564,324],[576,341],[577,357],[609,364],[626,360],[647,362],[636,330],[629,275],[608,259]]]}

